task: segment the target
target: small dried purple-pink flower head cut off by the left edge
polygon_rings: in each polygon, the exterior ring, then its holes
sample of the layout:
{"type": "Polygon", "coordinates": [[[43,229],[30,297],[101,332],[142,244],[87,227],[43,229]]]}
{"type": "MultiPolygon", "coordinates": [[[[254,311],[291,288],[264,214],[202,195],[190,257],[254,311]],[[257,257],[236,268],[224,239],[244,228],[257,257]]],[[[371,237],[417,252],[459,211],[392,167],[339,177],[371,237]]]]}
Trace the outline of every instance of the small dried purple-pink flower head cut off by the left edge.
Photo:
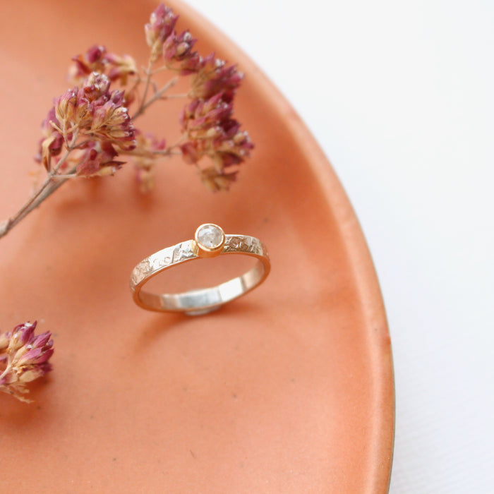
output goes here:
{"type": "Polygon", "coordinates": [[[0,391],[21,402],[32,401],[24,396],[29,392],[28,382],[52,370],[52,333],[35,336],[36,325],[36,321],[24,323],[0,334],[0,391]]]}

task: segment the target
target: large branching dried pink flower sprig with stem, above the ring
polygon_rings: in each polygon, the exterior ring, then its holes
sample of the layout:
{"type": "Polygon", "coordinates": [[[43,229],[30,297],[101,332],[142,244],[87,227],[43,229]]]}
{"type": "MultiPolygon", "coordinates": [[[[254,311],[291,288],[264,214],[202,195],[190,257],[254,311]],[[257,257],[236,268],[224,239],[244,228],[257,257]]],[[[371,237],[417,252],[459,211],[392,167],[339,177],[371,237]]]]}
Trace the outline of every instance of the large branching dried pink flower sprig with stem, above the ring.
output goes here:
{"type": "Polygon", "coordinates": [[[35,210],[61,185],[76,177],[114,174],[131,159],[142,191],[154,185],[153,169],[162,159],[181,155],[193,164],[205,186],[224,191],[236,179],[238,167],[253,144],[234,119],[234,99],[243,74],[236,66],[201,56],[188,30],[176,31],[177,16],[159,4],[145,25],[150,55],[145,69],[130,55],[109,52],[96,44],[74,56],[69,71],[73,87],[54,99],[42,124],[37,162],[45,171],[23,207],[0,223],[0,237],[35,210]],[[159,85],[158,74],[171,77],[159,85]],[[171,94],[179,78],[190,90],[171,94]],[[118,85],[118,89],[113,86],[118,85]],[[159,101],[186,100],[179,125],[181,138],[171,145],[141,131],[135,121],[159,101]],[[204,165],[203,162],[210,164],[204,165]]]}

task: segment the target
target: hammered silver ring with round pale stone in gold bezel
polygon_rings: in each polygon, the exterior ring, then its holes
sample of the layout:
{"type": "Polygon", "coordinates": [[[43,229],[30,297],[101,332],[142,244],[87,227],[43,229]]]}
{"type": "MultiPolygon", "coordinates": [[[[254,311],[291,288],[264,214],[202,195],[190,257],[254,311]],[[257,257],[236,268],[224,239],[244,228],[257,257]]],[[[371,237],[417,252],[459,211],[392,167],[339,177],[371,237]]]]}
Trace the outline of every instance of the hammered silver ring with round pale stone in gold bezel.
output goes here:
{"type": "Polygon", "coordinates": [[[164,248],[140,261],[131,272],[131,291],[135,303],[148,311],[200,315],[215,311],[257,287],[266,279],[270,268],[267,249],[259,239],[248,235],[226,235],[217,224],[206,223],[195,230],[194,240],[164,248]],[[243,275],[215,287],[165,294],[142,290],[152,277],[171,267],[224,254],[250,255],[257,258],[257,262],[243,275]]]}

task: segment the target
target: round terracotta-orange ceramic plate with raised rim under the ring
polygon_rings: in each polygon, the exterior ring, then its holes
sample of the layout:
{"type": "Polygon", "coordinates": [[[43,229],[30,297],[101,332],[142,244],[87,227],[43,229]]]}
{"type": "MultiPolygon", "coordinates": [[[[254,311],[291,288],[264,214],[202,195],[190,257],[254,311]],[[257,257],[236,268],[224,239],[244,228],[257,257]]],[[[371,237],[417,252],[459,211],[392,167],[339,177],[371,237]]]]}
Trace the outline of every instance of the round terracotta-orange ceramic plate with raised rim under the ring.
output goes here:
{"type": "MultiPolygon", "coordinates": [[[[390,338],[349,200],[258,68],[203,18],[170,4],[201,52],[215,49],[248,74],[237,117],[255,141],[253,158],[229,193],[206,191],[180,159],[159,169],[147,196],[131,167],[73,181],[0,240],[1,330],[38,319],[56,348],[34,404],[0,394],[0,490],[385,493],[390,338]],[[135,306],[134,265],[203,222],[262,239],[267,281],[198,318],[135,306]]],[[[98,42],[144,63],[153,8],[9,4],[0,20],[1,217],[30,191],[40,121],[66,88],[68,60],[98,42]]],[[[171,142],[178,105],[143,126],[171,142]]]]}

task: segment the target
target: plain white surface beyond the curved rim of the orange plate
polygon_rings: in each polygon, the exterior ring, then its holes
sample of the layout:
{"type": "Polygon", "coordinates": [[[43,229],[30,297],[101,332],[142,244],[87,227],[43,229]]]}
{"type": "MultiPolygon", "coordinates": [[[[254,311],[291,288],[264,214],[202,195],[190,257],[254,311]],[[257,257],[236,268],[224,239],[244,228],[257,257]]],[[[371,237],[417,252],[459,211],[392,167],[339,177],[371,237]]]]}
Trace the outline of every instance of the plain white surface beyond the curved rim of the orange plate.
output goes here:
{"type": "Polygon", "coordinates": [[[294,105],[361,221],[394,353],[390,492],[494,493],[494,2],[188,3],[294,105]]]}

